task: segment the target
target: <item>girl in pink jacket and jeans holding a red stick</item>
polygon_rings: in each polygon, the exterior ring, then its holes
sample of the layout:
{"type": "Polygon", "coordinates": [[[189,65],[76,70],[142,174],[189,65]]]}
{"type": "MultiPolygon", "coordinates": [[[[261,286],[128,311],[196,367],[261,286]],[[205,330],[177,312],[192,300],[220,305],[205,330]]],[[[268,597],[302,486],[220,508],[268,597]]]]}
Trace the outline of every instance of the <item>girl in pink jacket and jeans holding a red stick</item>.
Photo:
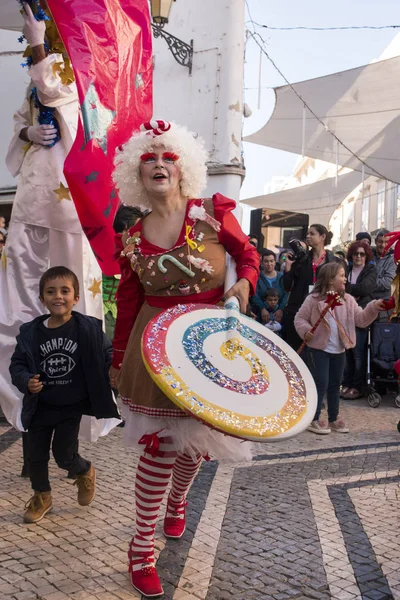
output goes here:
{"type": "Polygon", "coordinates": [[[348,433],[339,419],[340,385],[345,365],[345,350],[354,348],[356,327],[368,327],[383,310],[383,300],[372,300],[362,309],[350,294],[345,293],[346,273],[338,262],[321,267],[313,292],[307,296],[295,316],[294,325],[299,336],[307,342],[308,367],[318,392],[318,406],[309,431],[328,434],[331,431],[348,433]],[[329,310],[314,333],[312,327],[326,307],[328,291],[336,292],[341,305],[329,310]],[[329,425],[320,420],[322,401],[327,393],[329,425]]]}

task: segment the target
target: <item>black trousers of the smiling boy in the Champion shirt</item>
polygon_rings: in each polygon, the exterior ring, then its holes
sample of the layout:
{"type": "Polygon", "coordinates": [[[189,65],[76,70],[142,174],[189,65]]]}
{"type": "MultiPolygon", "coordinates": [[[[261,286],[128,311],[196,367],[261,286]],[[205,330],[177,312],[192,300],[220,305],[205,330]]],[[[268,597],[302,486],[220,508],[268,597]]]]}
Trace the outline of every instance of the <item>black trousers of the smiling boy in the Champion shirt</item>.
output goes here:
{"type": "Polygon", "coordinates": [[[51,491],[50,447],[60,469],[74,475],[82,475],[90,469],[90,462],[76,451],[81,418],[79,405],[55,407],[39,402],[28,430],[29,474],[36,492],[51,491]]]}

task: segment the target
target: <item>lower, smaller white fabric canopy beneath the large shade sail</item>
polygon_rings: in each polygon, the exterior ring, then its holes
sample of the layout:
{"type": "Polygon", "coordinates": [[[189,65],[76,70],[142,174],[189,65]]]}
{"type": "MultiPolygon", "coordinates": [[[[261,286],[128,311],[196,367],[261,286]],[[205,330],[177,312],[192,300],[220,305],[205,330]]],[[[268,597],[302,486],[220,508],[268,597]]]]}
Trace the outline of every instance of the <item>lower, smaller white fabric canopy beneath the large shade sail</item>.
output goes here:
{"type": "Polygon", "coordinates": [[[277,208],[298,213],[307,213],[310,221],[315,219],[321,225],[328,227],[329,219],[335,208],[361,183],[361,175],[351,171],[338,178],[335,187],[335,177],[322,179],[308,185],[301,185],[289,190],[265,194],[254,198],[241,200],[252,208],[277,208]]]}

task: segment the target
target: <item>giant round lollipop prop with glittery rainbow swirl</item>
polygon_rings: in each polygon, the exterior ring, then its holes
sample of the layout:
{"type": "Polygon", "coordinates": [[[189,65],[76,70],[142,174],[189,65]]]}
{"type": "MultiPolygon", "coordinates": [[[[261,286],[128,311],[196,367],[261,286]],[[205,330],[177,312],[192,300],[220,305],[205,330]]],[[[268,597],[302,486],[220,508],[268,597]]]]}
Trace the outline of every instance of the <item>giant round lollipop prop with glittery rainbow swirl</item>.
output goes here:
{"type": "Polygon", "coordinates": [[[291,437],[314,416],[316,390],[303,361],[238,311],[204,304],[170,308],[147,325],[142,356],[168,398],[229,435],[291,437]]]}

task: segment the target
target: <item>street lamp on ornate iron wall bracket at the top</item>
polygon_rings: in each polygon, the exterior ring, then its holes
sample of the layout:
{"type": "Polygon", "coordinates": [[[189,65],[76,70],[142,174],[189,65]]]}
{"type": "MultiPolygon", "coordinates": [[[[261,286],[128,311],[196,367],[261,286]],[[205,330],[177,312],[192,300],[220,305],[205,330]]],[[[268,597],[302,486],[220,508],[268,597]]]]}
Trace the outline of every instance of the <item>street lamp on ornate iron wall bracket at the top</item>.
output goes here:
{"type": "Polygon", "coordinates": [[[186,42],[175,37],[172,33],[164,31],[164,25],[168,23],[172,2],[175,2],[175,0],[150,0],[151,16],[154,21],[151,24],[153,35],[155,38],[164,38],[176,62],[182,65],[182,67],[188,67],[189,75],[191,75],[193,65],[193,40],[190,40],[190,44],[186,44],[186,42]]]}

